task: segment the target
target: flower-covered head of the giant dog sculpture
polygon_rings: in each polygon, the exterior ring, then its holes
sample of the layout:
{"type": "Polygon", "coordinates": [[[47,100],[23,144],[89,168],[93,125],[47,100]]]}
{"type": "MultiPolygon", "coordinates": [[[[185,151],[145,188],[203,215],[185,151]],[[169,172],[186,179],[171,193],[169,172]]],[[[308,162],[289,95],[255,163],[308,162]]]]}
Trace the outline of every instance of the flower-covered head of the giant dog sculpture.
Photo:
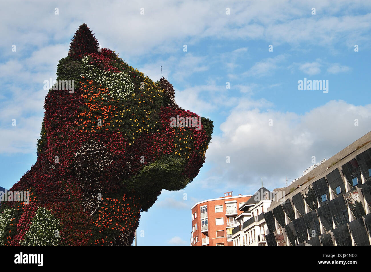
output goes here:
{"type": "Polygon", "coordinates": [[[93,195],[134,192],[142,210],[162,189],[182,189],[196,177],[213,122],[181,109],[165,78],[154,82],[100,49],[85,24],[57,75],[37,151],[59,175],[75,176],[93,195]]]}

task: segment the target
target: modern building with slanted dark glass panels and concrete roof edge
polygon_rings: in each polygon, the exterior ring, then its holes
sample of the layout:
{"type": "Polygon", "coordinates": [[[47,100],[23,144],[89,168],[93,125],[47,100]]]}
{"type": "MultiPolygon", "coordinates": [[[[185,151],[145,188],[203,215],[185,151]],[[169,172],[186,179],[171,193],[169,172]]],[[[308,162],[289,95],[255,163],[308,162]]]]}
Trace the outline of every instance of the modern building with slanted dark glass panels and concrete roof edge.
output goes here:
{"type": "Polygon", "coordinates": [[[268,246],[370,246],[371,132],[279,192],[268,246]]]}

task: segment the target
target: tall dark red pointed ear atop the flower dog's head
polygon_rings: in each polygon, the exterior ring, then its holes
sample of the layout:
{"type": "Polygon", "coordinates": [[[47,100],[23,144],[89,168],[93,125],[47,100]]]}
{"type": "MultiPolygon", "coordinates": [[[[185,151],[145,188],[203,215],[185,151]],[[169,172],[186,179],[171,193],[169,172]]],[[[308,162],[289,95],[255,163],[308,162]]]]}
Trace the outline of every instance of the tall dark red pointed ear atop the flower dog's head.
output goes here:
{"type": "Polygon", "coordinates": [[[73,59],[82,59],[85,54],[99,52],[98,41],[86,24],[79,26],[70,44],[68,56],[73,59]]]}

